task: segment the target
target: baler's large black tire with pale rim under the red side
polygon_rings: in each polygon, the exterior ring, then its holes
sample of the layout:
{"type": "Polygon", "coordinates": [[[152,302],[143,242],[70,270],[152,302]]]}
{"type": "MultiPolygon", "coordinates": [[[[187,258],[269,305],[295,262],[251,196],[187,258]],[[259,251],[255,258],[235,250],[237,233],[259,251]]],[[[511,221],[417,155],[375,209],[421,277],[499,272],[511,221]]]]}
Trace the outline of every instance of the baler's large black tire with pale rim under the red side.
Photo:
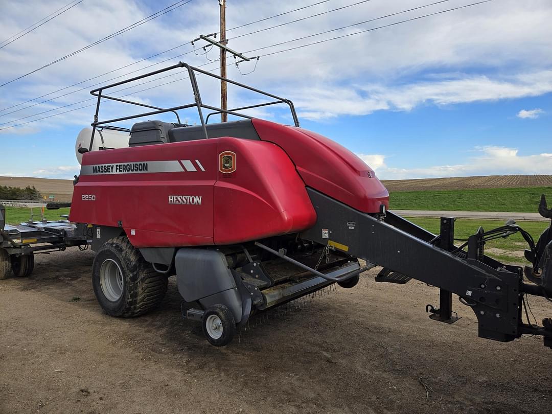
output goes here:
{"type": "Polygon", "coordinates": [[[167,276],[153,270],[126,236],[106,242],[92,264],[94,294],[112,316],[133,317],[155,309],[167,284],[167,276]]]}

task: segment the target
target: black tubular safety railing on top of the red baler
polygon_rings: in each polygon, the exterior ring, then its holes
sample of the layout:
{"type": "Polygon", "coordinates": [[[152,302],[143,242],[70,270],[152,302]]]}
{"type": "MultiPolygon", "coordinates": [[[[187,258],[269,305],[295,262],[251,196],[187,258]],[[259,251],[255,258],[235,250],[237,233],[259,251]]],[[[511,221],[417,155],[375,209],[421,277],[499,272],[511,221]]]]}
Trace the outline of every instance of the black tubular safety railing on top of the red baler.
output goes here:
{"type": "Polygon", "coordinates": [[[96,110],[95,110],[95,114],[94,114],[94,122],[91,124],[92,125],[92,138],[90,140],[90,147],[88,148],[89,151],[92,151],[92,145],[93,145],[93,142],[94,142],[94,135],[95,135],[95,131],[96,131],[97,128],[106,128],[106,129],[116,129],[116,128],[118,128],[118,127],[113,127],[113,126],[107,126],[106,124],[112,124],[112,123],[125,121],[125,120],[129,120],[129,119],[141,118],[142,116],[157,115],[157,114],[162,114],[162,113],[166,113],[166,112],[174,113],[176,115],[178,123],[180,124],[181,121],[180,121],[180,117],[179,117],[177,111],[181,110],[181,109],[187,109],[187,108],[193,108],[193,107],[196,107],[198,109],[199,119],[201,121],[201,127],[203,128],[203,133],[205,134],[205,139],[208,139],[208,137],[209,137],[208,134],[207,134],[206,123],[209,120],[209,117],[211,115],[226,113],[226,114],[230,114],[230,115],[240,116],[241,118],[251,119],[252,116],[241,114],[237,111],[245,110],[245,109],[252,109],[252,108],[259,108],[259,107],[266,107],[268,105],[276,105],[276,104],[286,104],[286,105],[288,105],[289,109],[291,111],[291,116],[293,118],[294,125],[297,126],[297,127],[300,126],[299,125],[299,118],[297,116],[297,113],[295,112],[295,107],[294,107],[293,102],[291,102],[291,100],[279,97],[277,95],[273,95],[273,94],[268,93],[268,92],[261,91],[261,89],[256,89],[256,88],[253,88],[251,86],[247,86],[243,83],[232,81],[232,79],[223,78],[221,76],[215,75],[214,73],[210,73],[210,72],[201,70],[197,67],[190,66],[190,65],[188,65],[188,63],[184,63],[184,62],[178,62],[177,65],[168,66],[166,68],[163,68],[163,69],[160,69],[160,70],[157,70],[157,71],[145,73],[144,75],[135,76],[134,78],[126,79],[125,81],[120,81],[120,82],[112,83],[112,84],[109,84],[109,85],[106,85],[106,86],[102,86],[100,88],[93,89],[92,91],[90,91],[90,93],[92,95],[94,95],[95,97],[98,97],[98,100],[97,100],[97,103],[96,103],[96,110]],[[144,103],[141,103],[141,102],[134,102],[134,101],[128,100],[128,99],[116,98],[116,97],[113,97],[113,96],[110,96],[110,95],[105,95],[103,93],[105,91],[105,89],[113,88],[113,87],[120,86],[120,85],[123,85],[123,84],[126,84],[126,83],[137,81],[139,79],[144,79],[144,78],[147,78],[147,77],[150,77],[150,76],[158,75],[159,73],[172,71],[174,69],[179,69],[179,68],[185,68],[188,71],[190,83],[192,84],[192,91],[193,91],[193,94],[194,94],[194,103],[179,105],[178,107],[172,107],[172,108],[160,108],[160,107],[154,107],[152,105],[147,105],[147,104],[144,104],[144,103]],[[226,81],[226,82],[231,83],[233,85],[239,86],[241,88],[248,89],[249,91],[256,92],[256,93],[265,95],[267,97],[270,97],[270,98],[273,98],[273,99],[276,99],[276,100],[271,101],[271,102],[266,102],[266,103],[260,103],[260,104],[256,104],[256,105],[249,105],[247,107],[235,108],[235,109],[222,109],[222,108],[213,107],[211,105],[206,105],[201,100],[201,95],[199,93],[198,82],[197,82],[197,79],[195,77],[196,72],[197,73],[202,73],[203,75],[206,75],[206,76],[210,76],[210,77],[219,79],[221,81],[226,81]],[[102,98],[103,99],[115,100],[117,102],[137,105],[139,107],[155,109],[155,111],[145,112],[145,113],[140,113],[140,114],[130,115],[130,116],[123,116],[121,118],[115,118],[115,119],[108,119],[108,120],[104,120],[104,121],[99,121],[98,120],[98,114],[99,114],[100,104],[102,102],[102,98]],[[202,110],[203,108],[210,109],[213,112],[209,113],[206,116],[206,118],[204,118],[203,110],[202,110]]]}

